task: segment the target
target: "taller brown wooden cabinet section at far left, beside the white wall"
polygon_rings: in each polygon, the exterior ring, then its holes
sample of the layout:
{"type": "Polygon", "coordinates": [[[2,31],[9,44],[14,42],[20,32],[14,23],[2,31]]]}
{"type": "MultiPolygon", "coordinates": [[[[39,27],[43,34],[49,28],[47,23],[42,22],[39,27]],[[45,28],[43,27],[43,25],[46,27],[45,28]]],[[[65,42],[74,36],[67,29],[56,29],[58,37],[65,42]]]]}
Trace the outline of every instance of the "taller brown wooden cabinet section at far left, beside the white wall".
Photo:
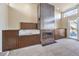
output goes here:
{"type": "Polygon", "coordinates": [[[18,30],[3,30],[3,51],[18,48],[18,30]]]}

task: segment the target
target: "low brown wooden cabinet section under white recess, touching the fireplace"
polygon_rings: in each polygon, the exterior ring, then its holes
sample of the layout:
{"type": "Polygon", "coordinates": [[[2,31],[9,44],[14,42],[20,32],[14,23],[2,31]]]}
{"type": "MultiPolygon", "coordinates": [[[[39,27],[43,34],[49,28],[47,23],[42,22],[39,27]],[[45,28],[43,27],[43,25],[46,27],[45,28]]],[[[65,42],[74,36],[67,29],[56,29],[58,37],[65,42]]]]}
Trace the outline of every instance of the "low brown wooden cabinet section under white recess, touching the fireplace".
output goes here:
{"type": "Polygon", "coordinates": [[[40,35],[28,35],[19,37],[19,48],[40,44],[40,35]]]}

